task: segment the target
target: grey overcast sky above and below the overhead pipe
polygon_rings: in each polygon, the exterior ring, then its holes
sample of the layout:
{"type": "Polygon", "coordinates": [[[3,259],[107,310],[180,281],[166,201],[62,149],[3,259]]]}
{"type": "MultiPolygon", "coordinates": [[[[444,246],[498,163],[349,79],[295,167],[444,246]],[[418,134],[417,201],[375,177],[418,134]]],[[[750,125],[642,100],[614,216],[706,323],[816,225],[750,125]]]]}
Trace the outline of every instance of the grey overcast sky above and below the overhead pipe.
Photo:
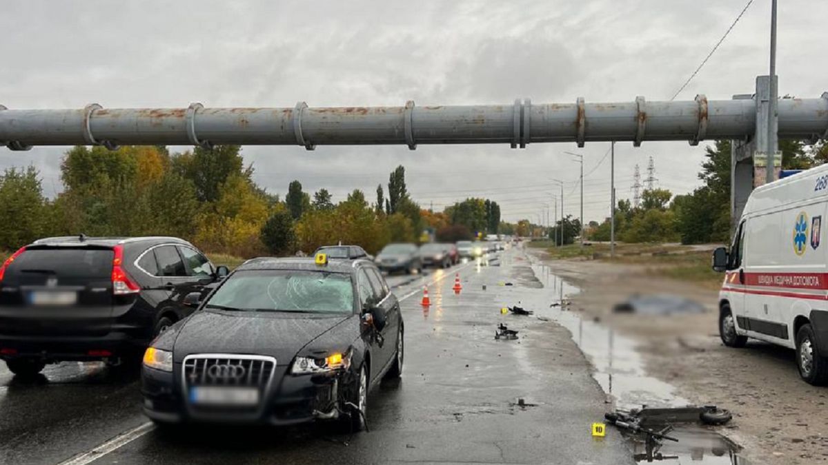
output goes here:
{"type": "MultiPolygon", "coordinates": [[[[744,0],[35,1],[3,0],[0,103],[8,108],[293,107],[511,104],[668,100],[728,28],[744,0]]],[[[753,93],[768,73],[770,0],[756,0],[700,74],[678,96],[753,93]]],[[[780,94],[826,90],[828,2],[779,7],[780,94]]],[[[699,185],[703,146],[616,145],[616,190],[631,196],[633,167],[656,185],[699,185]]],[[[186,147],[172,147],[183,151],[186,147]]],[[[300,180],[335,200],[352,189],[374,199],[405,165],[412,197],[443,209],[488,197],[516,221],[550,203],[551,178],[566,181],[566,213],[578,214],[584,154],[585,218],[609,214],[609,143],[498,146],[247,146],[254,178],[272,193],[300,180]],[[602,160],[603,163],[600,163],[602,160]],[[599,164],[600,163],[600,164],[599,164]]],[[[0,168],[33,164],[46,194],[60,191],[65,148],[0,148],[0,168]]],[[[560,195],[559,195],[560,196],[560,195]]],[[[559,200],[560,201],[560,200],[559,200]]],[[[560,208],[559,208],[560,210],[560,208]]],[[[560,213],[560,211],[559,211],[560,213]]]]}

